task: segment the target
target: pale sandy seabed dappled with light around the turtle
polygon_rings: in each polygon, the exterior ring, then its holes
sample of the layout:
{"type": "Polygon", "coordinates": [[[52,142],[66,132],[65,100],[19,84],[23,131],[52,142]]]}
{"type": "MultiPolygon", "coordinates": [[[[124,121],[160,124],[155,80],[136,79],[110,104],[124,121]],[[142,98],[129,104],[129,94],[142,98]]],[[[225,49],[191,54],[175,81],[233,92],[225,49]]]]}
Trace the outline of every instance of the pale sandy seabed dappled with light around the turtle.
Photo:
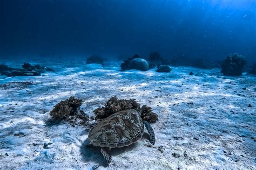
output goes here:
{"type": "Polygon", "coordinates": [[[119,72],[119,62],[39,64],[56,72],[0,79],[0,169],[256,168],[255,76],[192,67],[119,72]],[[151,124],[154,147],[145,134],[113,148],[107,166],[99,147],[84,146],[88,132],[82,126],[47,123],[60,100],[81,98],[81,110],[93,116],[114,95],[135,98],[158,114],[151,124]]]}

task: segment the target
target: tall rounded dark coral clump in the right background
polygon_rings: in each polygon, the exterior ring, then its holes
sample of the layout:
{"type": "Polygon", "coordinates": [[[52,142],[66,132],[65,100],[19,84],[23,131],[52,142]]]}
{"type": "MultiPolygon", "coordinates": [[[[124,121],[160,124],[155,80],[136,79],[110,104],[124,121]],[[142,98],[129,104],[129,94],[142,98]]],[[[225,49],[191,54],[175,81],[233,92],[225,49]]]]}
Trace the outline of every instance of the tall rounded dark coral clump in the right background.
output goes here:
{"type": "Polygon", "coordinates": [[[221,65],[221,73],[227,76],[239,76],[242,75],[242,71],[245,67],[244,56],[238,53],[227,56],[221,65]]]}

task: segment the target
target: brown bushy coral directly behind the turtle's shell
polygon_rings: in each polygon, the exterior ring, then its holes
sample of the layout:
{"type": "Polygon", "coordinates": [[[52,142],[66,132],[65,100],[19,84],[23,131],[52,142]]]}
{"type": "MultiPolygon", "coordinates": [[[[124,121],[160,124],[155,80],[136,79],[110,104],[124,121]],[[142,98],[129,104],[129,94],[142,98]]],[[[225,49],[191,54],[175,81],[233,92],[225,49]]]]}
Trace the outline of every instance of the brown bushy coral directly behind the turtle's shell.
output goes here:
{"type": "Polygon", "coordinates": [[[106,117],[109,117],[110,115],[113,115],[114,113],[125,110],[125,109],[135,109],[141,113],[141,117],[144,121],[147,122],[156,122],[158,121],[157,114],[154,114],[152,112],[152,108],[147,107],[146,105],[143,105],[142,108],[140,108],[140,104],[136,102],[135,99],[121,99],[119,100],[116,96],[111,97],[104,107],[98,108],[93,110],[95,114],[95,119],[103,119],[106,117]]]}

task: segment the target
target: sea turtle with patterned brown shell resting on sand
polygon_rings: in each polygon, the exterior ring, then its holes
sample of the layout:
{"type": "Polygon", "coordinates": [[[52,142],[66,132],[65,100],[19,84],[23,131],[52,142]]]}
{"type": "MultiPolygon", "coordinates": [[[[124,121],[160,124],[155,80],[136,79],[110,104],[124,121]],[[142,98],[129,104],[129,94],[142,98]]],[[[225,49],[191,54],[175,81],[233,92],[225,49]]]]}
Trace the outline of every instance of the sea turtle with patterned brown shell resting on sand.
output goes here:
{"type": "Polygon", "coordinates": [[[144,126],[150,135],[150,143],[154,145],[154,131],[149,123],[143,121],[140,113],[134,109],[118,111],[102,119],[89,132],[87,145],[100,146],[104,158],[110,164],[111,156],[107,153],[111,148],[124,147],[142,138],[144,126]]]}

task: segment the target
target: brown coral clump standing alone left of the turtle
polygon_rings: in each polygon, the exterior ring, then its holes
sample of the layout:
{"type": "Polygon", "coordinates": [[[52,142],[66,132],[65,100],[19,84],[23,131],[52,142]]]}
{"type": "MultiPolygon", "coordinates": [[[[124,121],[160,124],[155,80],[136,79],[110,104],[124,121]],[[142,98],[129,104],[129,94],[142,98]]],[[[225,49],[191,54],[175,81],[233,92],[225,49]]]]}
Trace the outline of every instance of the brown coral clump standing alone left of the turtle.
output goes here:
{"type": "Polygon", "coordinates": [[[77,112],[77,109],[82,105],[82,100],[71,96],[69,99],[60,101],[55,105],[50,115],[53,119],[66,119],[77,112]]]}

